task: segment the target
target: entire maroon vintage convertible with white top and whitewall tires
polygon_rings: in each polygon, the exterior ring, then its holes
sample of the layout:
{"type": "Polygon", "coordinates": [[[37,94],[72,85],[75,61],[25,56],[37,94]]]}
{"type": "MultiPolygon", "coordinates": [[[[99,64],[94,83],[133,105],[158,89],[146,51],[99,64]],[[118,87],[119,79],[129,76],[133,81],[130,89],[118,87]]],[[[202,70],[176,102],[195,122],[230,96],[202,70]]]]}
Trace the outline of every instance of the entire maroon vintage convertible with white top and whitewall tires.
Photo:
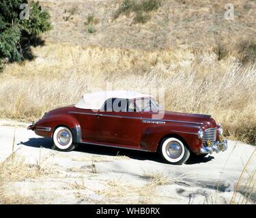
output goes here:
{"type": "Polygon", "coordinates": [[[166,111],[151,95],[130,91],[85,94],[75,105],[46,112],[28,129],[53,138],[59,151],[96,144],[159,152],[173,164],[227,150],[223,128],[210,115],[166,111]]]}

